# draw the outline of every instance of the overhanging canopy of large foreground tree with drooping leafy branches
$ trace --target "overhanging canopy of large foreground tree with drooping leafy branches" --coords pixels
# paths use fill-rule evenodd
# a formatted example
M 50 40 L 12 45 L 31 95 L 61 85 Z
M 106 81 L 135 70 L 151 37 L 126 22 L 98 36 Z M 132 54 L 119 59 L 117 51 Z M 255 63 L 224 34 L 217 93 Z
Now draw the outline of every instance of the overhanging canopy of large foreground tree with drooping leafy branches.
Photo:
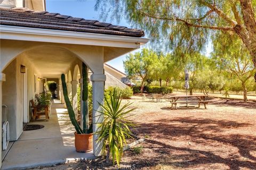
M 256 0 L 98 0 L 95 10 L 102 19 L 124 16 L 145 29 L 156 47 L 171 50 L 199 51 L 210 35 L 232 32 L 256 66 Z

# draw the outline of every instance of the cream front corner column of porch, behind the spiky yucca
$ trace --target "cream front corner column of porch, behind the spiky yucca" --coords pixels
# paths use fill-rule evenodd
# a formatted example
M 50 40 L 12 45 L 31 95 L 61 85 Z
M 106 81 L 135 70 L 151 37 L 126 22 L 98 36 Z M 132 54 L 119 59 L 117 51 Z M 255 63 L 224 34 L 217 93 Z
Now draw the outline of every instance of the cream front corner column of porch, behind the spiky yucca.
M 104 82 L 106 81 L 105 74 L 92 74 L 92 105 L 93 105 L 93 114 L 92 114 L 92 122 L 93 122 L 93 132 L 97 132 L 100 129 L 98 128 L 97 123 L 101 123 L 104 120 L 104 116 L 101 113 L 97 112 L 102 110 L 99 106 L 98 102 L 103 104 L 104 98 Z M 99 116 L 100 115 L 100 116 Z M 93 154 L 95 156 L 102 155 L 102 143 L 97 142 L 98 135 L 93 134 Z

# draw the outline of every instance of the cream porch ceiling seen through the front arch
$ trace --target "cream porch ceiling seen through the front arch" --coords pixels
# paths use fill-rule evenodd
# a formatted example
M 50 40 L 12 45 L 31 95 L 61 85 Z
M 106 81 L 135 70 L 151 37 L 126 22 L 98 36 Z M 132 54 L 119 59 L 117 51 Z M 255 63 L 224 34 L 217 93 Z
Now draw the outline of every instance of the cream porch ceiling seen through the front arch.
M 42 77 L 59 78 L 61 73 L 68 71 L 71 63 L 79 60 L 66 49 L 41 47 L 25 52 Z

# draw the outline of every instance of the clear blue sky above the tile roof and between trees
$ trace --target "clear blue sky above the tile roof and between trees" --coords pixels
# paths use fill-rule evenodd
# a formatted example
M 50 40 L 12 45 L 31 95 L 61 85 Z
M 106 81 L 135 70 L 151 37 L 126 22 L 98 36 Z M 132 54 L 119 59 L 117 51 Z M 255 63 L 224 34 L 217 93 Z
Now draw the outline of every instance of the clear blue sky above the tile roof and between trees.
M 46 0 L 46 11 L 56 12 L 63 15 L 70 15 L 74 17 L 99 20 L 99 12 L 94 11 L 95 0 Z M 125 27 L 132 26 L 122 19 L 119 23 L 116 21 L 106 21 L 112 24 L 118 24 Z M 206 55 L 209 55 L 212 50 L 211 43 L 206 48 Z M 125 56 L 120 56 L 108 62 L 109 65 L 115 67 L 117 70 L 124 72 L 123 61 Z

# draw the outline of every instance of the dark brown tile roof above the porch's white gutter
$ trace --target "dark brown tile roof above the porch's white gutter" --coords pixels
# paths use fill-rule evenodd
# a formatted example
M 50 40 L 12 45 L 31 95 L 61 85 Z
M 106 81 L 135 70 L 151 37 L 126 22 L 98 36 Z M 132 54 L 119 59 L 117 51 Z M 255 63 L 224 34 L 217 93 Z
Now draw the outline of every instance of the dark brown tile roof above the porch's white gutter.
M 0 8 L 0 24 L 129 37 L 143 37 L 145 35 L 142 30 L 138 29 L 130 29 L 97 20 L 74 18 L 59 13 L 35 11 L 29 8 Z

